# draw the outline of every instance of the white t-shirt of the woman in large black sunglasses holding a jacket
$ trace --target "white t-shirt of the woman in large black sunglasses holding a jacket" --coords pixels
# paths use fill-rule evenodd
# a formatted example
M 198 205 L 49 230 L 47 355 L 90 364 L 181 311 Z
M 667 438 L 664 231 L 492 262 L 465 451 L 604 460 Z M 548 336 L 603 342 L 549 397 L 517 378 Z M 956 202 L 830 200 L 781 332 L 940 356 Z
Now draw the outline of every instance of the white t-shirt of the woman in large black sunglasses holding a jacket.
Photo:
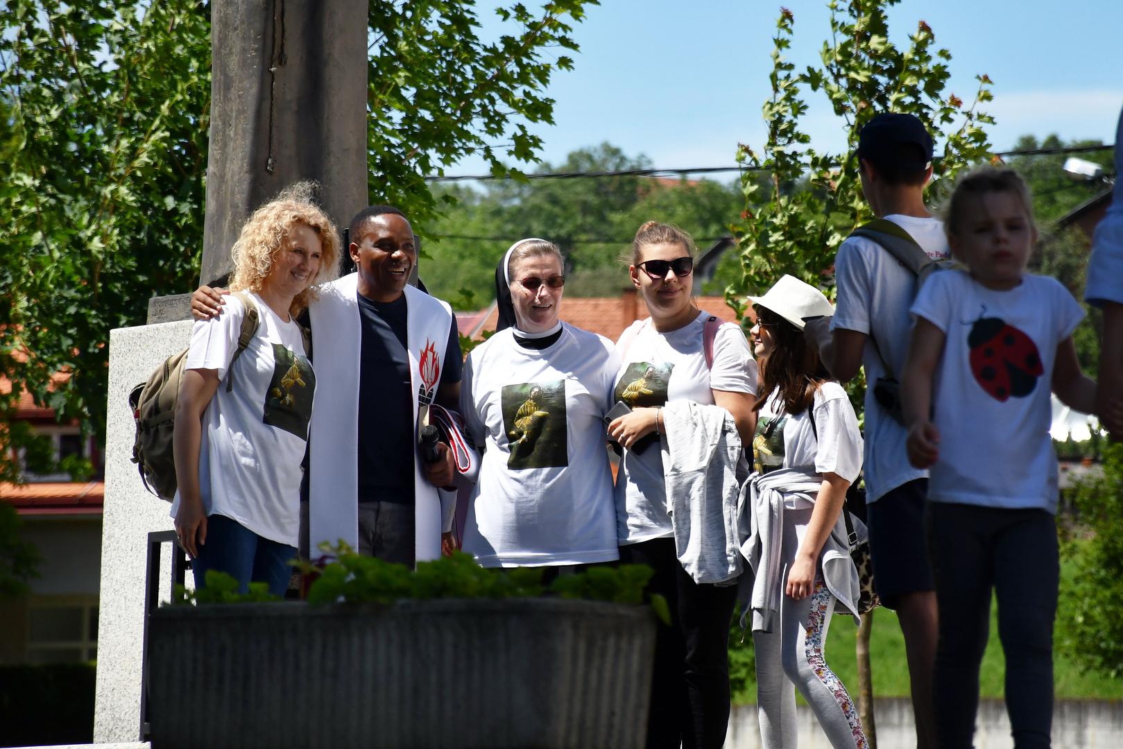
M 706 367 L 703 332 L 709 318 L 709 312 L 700 312 L 693 322 L 670 332 L 659 332 L 650 319 L 633 322 L 620 336 L 621 341 L 634 337 L 627 350 L 619 351 L 623 360 L 612 403 L 642 408 L 686 400 L 712 405 L 715 390 L 755 395 L 757 363 L 737 325 L 718 328 L 713 367 Z M 674 535 L 658 441 L 641 453 L 624 450 L 617 472 L 615 505 L 621 546 Z

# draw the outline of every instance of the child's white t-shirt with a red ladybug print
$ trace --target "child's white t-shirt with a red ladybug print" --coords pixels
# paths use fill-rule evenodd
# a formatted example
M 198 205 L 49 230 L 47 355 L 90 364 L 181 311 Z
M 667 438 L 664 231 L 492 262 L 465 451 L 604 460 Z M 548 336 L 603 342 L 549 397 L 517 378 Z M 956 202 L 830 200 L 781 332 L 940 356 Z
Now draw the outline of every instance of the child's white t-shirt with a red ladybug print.
M 1052 371 L 1084 310 L 1056 278 L 1025 275 L 994 291 L 944 271 L 924 283 L 912 312 L 946 335 L 933 389 L 940 457 L 928 499 L 1056 513 Z

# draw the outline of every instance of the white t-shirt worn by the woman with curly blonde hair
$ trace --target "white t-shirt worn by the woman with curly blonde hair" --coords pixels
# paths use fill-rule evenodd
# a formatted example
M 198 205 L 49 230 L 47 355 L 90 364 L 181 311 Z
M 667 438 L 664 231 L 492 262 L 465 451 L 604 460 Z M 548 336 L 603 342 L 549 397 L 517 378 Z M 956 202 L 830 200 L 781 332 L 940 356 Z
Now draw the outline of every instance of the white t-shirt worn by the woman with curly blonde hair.
M 222 314 L 191 329 L 188 369 L 217 369 L 219 386 L 203 412 L 199 487 L 208 515 L 237 521 L 271 541 L 298 546 L 301 463 L 316 376 L 295 320 L 284 322 L 257 294 L 259 325 L 232 368 L 246 308 L 227 296 Z M 176 493 L 172 517 L 180 506 Z

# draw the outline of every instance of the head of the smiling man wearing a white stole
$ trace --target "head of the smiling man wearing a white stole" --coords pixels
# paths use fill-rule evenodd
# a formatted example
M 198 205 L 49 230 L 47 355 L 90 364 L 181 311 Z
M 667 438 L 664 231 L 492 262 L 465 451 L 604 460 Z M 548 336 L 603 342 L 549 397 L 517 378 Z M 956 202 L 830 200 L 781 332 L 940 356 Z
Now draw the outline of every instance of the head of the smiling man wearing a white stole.
M 358 293 L 376 302 L 401 296 L 418 259 L 413 243 L 413 229 L 402 216 L 383 213 L 364 221 L 350 244 Z

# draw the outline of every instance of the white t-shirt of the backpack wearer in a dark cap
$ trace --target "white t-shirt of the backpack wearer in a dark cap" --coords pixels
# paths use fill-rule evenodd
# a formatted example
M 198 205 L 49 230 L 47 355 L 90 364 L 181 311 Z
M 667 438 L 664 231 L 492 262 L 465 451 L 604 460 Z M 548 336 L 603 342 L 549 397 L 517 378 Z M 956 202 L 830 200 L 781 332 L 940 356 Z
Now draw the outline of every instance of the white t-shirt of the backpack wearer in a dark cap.
M 950 255 L 941 221 L 897 213 L 885 218 L 907 231 L 929 257 L 943 259 Z M 856 330 L 869 337 L 861 363 L 867 385 L 866 499 L 874 502 L 902 484 L 928 476 L 926 471 L 909 463 L 905 428 L 874 399 L 874 383 L 885 375 L 880 357 L 901 378 L 912 332 L 909 308 L 915 296 L 916 277 L 874 240 L 850 237 L 834 258 L 834 281 L 838 301 L 831 330 Z

